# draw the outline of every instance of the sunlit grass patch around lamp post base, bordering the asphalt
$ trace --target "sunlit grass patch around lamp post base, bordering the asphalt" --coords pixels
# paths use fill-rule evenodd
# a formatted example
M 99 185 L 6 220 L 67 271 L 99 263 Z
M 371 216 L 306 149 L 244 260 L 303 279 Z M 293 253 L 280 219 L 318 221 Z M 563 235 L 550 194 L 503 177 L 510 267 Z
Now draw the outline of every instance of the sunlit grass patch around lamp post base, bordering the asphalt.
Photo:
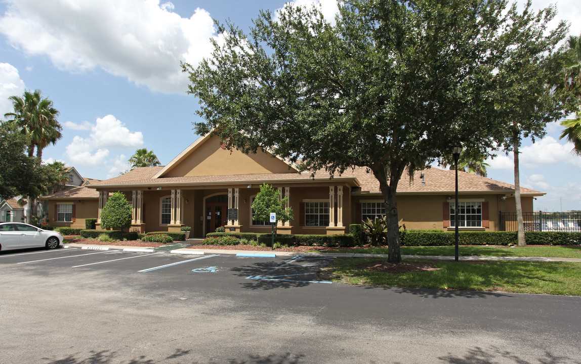
M 377 258 L 337 258 L 322 269 L 322 275 L 360 286 L 581 295 L 581 263 L 577 262 L 404 260 L 411 262 L 434 270 L 390 273 L 378 271 L 390 264 Z

